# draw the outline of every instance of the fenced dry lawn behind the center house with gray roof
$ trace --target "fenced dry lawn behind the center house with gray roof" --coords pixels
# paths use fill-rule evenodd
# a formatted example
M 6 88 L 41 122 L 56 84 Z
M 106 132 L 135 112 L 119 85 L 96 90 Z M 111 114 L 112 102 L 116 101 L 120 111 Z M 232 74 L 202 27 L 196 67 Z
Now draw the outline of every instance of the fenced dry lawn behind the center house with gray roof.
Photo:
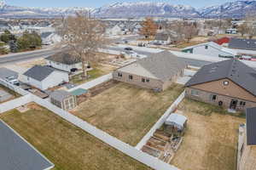
M 120 82 L 86 100 L 72 113 L 125 143 L 136 145 L 182 92 L 183 87 L 177 84 L 154 93 Z

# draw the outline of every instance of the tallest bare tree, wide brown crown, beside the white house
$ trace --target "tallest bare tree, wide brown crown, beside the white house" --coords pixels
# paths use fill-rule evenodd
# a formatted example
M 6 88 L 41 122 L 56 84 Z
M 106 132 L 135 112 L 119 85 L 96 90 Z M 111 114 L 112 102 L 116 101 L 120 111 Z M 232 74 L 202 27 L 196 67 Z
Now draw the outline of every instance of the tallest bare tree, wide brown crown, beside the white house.
M 83 78 L 87 77 L 87 66 L 96 64 L 96 51 L 106 44 L 105 27 L 88 12 L 78 12 L 74 16 L 62 17 L 56 22 L 56 30 L 62 37 L 61 44 L 79 56 L 83 65 Z

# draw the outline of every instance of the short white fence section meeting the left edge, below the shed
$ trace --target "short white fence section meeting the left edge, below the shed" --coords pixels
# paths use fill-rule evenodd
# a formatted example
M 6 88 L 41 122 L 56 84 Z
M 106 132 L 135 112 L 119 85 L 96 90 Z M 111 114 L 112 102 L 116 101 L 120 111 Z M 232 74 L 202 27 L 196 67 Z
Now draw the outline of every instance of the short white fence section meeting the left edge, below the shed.
M 30 102 L 32 102 L 31 94 L 26 94 L 25 96 L 22 96 L 18 99 L 13 99 L 13 100 L 4 102 L 3 104 L 0 104 L 0 114 L 6 111 L 13 110 L 17 107 L 20 107 L 21 105 L 26 105 Z

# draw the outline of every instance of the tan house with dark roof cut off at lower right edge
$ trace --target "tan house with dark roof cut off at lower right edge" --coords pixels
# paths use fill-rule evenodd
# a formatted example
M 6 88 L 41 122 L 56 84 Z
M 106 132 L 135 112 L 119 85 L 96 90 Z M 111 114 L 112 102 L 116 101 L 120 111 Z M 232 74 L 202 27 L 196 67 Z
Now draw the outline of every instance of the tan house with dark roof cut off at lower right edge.
M 256 167 L 256 108 L 247 109 L 246 115 L 246 125 L 239 128 L 237 170 L 254 170 Z

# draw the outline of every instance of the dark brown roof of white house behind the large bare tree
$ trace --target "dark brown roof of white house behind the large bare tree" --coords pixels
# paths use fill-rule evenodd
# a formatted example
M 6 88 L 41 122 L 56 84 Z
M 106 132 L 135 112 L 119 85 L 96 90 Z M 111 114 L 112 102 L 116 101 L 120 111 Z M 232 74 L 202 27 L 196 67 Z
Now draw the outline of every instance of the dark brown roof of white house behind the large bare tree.
M 57 54 L 53 54 L 53 55 L 49 56 L 46 59 L 50 60 L 50 61 L 55 61 L 55 62 L 58 62 L 58 63 L 62 63 L 62 64 L 65 64 L 65 65 L 73 65 L 73 64 L 81 62 L 81 59 L 79 57 L 76 57 L 76 56 L 74 56 L 72 54 L 69 54 L 67 52 L 60 52 L 60 53 L 57 53 Z

